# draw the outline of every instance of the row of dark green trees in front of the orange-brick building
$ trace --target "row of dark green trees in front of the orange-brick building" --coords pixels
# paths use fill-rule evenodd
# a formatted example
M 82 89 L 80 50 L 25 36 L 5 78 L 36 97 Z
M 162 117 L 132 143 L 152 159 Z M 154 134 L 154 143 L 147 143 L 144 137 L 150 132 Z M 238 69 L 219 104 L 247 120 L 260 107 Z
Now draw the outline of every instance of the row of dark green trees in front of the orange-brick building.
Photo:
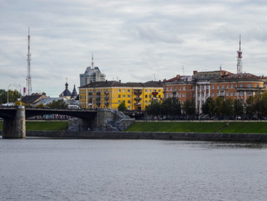
M 246 118 L 266 118 L 267 117 L 267 93 L 251 96 L 245 103 L 241 99 L 224 99 L 217 97 L 212 99 L 208 97 L 206 102 L 202 104 L 202 113 L 208 115 L 209 118 L 236 118 L 244 116 Z M 183 105 L 179 104 L 177 98 L 171 97 L 165 99 L 161 104 L 153 102 L 147 106 L 148 115 L 186 115 L 190 118 L 198 115 L 198 110 L 195 108 L 194 100 L 186 100 Z

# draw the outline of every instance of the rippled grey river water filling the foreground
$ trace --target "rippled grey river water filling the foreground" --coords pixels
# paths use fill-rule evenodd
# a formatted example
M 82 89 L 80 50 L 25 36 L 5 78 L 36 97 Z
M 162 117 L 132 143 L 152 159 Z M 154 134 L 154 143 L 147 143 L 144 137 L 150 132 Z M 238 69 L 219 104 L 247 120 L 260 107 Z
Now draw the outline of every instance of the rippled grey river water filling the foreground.
M 0 137 L 0 200 L 266 200 L 267 144 Z

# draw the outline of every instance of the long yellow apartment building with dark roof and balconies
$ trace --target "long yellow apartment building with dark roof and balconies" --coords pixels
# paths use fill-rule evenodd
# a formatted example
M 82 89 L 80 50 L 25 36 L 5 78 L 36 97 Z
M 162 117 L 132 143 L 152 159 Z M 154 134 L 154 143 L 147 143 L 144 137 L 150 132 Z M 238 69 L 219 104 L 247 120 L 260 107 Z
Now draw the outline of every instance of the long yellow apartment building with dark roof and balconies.
M 128 110 L 143 111 L 152 100 L 163 99 L 163 83 L 121 83 L 120 81 L 96 81 L 79 88 L 81 108 L 118 109 L 125 102 Z

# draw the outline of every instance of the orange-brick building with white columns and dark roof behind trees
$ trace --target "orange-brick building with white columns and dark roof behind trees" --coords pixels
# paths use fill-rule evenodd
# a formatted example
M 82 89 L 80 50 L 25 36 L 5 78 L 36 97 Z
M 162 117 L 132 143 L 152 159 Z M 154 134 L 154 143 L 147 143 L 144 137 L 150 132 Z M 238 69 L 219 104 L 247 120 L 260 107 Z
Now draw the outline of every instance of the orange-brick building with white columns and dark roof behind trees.
M 253 74 L 233 74 L 225 70 L 193 72 L 193 76 L 179 76 L 164 80 L 164 99 L 177 97 L 181 104 L 194 100 L 197 111 L 202 113 L 202 104 L 208 97 L 216 99 L 240 99 L 242 103 L 252 95 L 264 93 L 266 79 Z

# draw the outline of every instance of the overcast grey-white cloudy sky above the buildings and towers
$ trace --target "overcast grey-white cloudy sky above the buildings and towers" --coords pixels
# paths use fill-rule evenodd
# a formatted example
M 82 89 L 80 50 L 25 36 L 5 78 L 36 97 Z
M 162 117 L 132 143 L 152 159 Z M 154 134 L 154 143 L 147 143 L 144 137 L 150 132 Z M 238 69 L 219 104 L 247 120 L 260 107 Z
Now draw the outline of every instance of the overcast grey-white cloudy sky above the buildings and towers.
M 108 80 L 145 82 L 193 70 L 266 76 L 266 0 L 0 0 L 0 88 L 26 87 L 28 28 L 33 93 L 79 87 L 94 55 Z M 184 67 L 184 70 L 183 70 Z

